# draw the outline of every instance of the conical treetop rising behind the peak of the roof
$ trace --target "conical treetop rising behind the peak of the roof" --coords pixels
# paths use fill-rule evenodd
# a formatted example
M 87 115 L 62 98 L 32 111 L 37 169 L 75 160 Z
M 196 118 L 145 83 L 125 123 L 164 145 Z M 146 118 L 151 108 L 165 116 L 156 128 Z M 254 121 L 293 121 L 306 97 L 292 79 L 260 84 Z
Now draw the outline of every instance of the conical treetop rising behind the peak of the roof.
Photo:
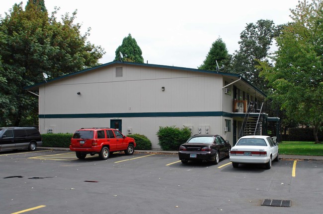
M 143 53 L 135 38 L 131 37 L 131 34 L 123 38 L 121 46 L 119 46 L 115 51 L 114 61 L 120 60 L 119 52 L 124 56 L 122 58 L 123 61 L 144 63 L 144 58 L 142 56 Z

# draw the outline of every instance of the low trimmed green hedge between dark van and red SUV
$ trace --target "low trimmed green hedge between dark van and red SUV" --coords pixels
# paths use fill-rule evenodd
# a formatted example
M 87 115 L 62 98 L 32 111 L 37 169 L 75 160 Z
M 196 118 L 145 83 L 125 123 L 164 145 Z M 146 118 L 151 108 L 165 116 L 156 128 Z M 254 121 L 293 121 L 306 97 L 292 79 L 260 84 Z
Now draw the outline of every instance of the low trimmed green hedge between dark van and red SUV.
M 43 147 L 63 147 L 69 148 L 73 134 L 42 134 Z

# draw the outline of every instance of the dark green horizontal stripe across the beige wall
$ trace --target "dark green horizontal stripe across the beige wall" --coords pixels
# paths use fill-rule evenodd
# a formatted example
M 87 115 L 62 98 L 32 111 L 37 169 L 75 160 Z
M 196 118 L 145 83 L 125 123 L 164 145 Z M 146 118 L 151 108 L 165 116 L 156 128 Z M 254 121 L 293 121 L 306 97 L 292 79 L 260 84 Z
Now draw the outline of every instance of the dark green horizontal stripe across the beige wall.
M 187 116 L 233 117 L 232 113 L 228 113 L 224 111 L 39 114 L 39 118 L 187 117 Z

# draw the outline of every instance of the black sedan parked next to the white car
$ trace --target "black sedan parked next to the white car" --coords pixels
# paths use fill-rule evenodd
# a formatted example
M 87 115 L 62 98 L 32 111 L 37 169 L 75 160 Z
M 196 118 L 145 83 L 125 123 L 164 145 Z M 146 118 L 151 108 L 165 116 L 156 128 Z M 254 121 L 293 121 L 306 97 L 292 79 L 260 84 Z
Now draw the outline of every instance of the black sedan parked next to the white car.
M 231 146 L 220 135 L 194 135 L 179 147 L 178 158 L 182 163 L 188 160 L 214 161 L 230 156 Z

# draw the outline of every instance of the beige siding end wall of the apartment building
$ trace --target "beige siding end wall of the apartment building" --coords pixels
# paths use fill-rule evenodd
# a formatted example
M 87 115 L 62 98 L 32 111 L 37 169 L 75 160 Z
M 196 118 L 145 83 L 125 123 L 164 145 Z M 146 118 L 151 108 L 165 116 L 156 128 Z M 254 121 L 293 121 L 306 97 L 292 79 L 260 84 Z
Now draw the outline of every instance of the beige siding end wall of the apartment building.
M 39 88 L 40 114 L 88 114 L 134 112 L 231 112 L 231 98 L 224 95 L 221 75 L 123 65 L 123 77 L 115 67 L 106 66 Z M 161 91 L 161 87 L 165 91 Z M 81 95 L 77 95 L 81 92 Z M 221 100 L 225 99 L 224 104 Z M 229 102 L 230 101 L 230 102 Z M 156 132 L 160 126 L 192 126 L 193 134 L 220 134 L 232 142 L 232 132 L 224 132 L 224 117 L 124 117 L 124 118 L 40 118 L 40 131 L 74 133 L 81 127 L 108 127 L 110 119 L 122 119 L 122 131 L 146 135 L 159 149 Z

